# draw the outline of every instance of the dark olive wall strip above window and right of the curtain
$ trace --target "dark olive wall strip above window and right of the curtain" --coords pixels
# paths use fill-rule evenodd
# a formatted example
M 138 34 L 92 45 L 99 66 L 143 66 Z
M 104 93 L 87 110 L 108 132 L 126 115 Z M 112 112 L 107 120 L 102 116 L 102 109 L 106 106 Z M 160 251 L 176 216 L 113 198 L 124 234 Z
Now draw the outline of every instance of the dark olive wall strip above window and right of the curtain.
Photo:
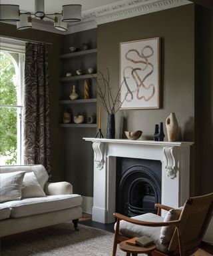
M 17 39 L 29 39 L 52 43 L 49 45 L 49 81 L 50 81 L 50 107 L 51 107 L 51 166 L 53 171 L 53 180 L 64 179 L 63 161 L 62 161 L 62 141 L 61 130 L 59 129 L 59 54 L 63 45 L 63 35 L 49 33 L 35 29 L 17 31 L 14 25 L 0 23 L 0 35 L 16 37 Z

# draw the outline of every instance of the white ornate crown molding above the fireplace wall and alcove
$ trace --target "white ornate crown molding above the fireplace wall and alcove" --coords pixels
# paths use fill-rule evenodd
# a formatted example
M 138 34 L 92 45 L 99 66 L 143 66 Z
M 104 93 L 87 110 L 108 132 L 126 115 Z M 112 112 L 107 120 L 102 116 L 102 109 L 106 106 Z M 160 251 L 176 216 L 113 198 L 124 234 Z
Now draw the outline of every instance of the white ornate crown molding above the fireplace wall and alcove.
M 97 25 L 136 17 L 155 11 L 188 5 L 188 0 L 122 0 L 89 11 L 83 11 L 82 21 L 72 24 L 67 33 L 94 29 Z

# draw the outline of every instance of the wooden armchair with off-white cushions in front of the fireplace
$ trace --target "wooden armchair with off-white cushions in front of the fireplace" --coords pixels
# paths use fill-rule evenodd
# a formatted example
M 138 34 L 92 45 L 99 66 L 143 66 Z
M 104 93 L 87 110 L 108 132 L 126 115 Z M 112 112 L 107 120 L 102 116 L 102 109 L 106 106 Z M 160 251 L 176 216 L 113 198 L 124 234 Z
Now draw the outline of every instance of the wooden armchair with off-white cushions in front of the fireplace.
M 191 197 L 178 209 L 160 204 L 156 207 L 157 215 L 146 213 L 129 218 L 114 213 L 117 221 L 112 256 L 116 255 L 118 243 L 142 235 L 154 240 L 156 250 L 152 255 L 192 255 L 199 249 L 212 217 L 213 193 Z M 160 216 L 161 209 L 168 211 L 164 218 Z

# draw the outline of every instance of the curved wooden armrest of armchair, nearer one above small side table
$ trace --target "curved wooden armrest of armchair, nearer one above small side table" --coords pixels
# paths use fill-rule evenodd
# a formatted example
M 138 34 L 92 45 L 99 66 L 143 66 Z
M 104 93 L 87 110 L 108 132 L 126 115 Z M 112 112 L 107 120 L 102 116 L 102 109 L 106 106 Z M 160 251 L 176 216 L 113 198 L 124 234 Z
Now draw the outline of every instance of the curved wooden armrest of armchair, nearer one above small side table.
M 164 226 L 170 226 L 175 225 L 176 227 L 179 226 L 180 220 L 176 221 L 167 221 L 167 222 L 149 222 L 149 221 L 139 221 L 138 219 L 132 219 L 130 217 L 126 217 L 120 213 L 113 213 L 114 217 L 116 217 L 118 220 L 127 221 L 132 224 L 136 225 L 142 225 L 147 227 L 164 227 Z

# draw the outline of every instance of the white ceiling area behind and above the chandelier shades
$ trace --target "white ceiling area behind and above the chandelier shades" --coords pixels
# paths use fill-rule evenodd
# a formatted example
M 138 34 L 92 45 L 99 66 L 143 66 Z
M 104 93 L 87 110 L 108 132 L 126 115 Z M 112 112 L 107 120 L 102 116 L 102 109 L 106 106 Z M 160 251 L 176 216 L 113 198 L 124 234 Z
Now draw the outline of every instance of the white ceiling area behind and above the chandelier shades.
M 45 0 L 45 13 L 56 13 L 61 11 L 62 5 L 80 4 L 82 11 L 108 5 L 118 0 Z M 34 0 L 0 0 L 1 4 L 19 5 L 23 11 L 34 12 Z

